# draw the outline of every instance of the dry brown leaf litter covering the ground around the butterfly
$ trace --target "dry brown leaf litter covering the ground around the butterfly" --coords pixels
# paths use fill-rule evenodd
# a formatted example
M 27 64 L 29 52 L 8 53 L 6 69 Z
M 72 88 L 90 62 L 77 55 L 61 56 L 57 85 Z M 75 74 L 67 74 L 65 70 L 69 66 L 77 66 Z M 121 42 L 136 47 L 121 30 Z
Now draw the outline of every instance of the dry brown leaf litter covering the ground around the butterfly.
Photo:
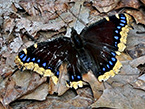
M 88 1 L 91 5 L 89 5 L 89 8 L 87 6 L 85 7 L 88 8 L 85 10 L 86 13 L 90 14 L 89 17 L 86 16 L 86 22 L 92 20 L 91 18 L 93 18 L 93 16 L 96 17 L 93 12 L 97 10 L 91 7 L 95 7 L 100 12 L 105 12 L 109 15 L 114 13 L 114 11 L 118 12 L 118 9 L 122 10 L 122 8 L 124 8 L 123 11 L 131 14 L 137 22 L 134 30 L 130 31 L 128 36 L 127 49 L 125 52 L 129 54 L 130 57 L 122 54 L 122 58 L 120 58 L 123 64 L 121 72 L 115 77 L 110 78 L 107 82 L 102 83 L 100 87 L 95 87 L 95 84 L 93 84 L 94 79 L 92 82 L 88 80 L 90 86 L 94 87 L 92 90 L 89 85 L 78 89 L 76 92 L 69 90 L 64 87 L 65 78 L 67 78 L 67 72 L 64 66 L 60 69 L 62 78 L 64 79 L 59 81 L 60 84 L 58 86 L 53 85 L 51 80 L 48 83 L 47 78 L 42 78 L 32 71 L 17 71 L 15 74 L 11 75 L 15 69 L 13 62 L 14 57 L 19 50 L 22 49 L 21 46 L 23 46 L 23 43 L 29 42 L 26 38 L 27 35 L 24 34 L 27 32 L 34 37 L 34 39 L 39 41 L 41 40 L 41 35 L 44 35 L 42 33 L 45 32 L 47 34 L 49 32 L 53 33 L 49 35 L 49 38 L 54 35 L 59 35 L 59 33 L 65 33 L 64 28 L 66 28 L 68 24 L 70 26 L 77 26 L 75 25 L 75 21 L 78 20 L 74 20 L 75 17 L 71 15 L 68 10 L 73 9 L 73 6 L 79 9 L 79 4 L 84 2 L 86 1 L 79 2 L 75 0 L 69 2 L 62 0 L 48 2 L 45 0 L 20 0 L 19 2 L 11 3 L 13 7 L 9 7 L 9 11 L 1 11 L 3 12 L 3 23 L 1 26 L 3 31 L 1 31 L 0 36 L 0 108 L 144 108 L 145 78 L 144 72 L 140 74 L 141 70 L 138 66 L 141 65 L 141 67 L 144 68 L 145 64 L 145 28 L 138 23 L 145 24 L 145 16 L 144 11 L 139 10 L 143 4 L 138 0 L 97 1 L 97 3 Z M 70 7 L 67 4 L 69 4 Z M 65 22 L 60 19 L 60 16 L 58 16 L 55 11 L 58 11 Z M 98 15 L 98 12 L 96 14 Z M 81 15 L 81 11 L 79 12 L 78 10 L 75 15 Z M 84 20 L 83 14 L 80 16 L 80 19 Z M 76 27 L 76 29 L 79 28 Z M 46 37 L 47 34 L 45 34 Z M 103 93 L 101 92 L 99 93 L 100 95 L 96 95 L 99 96 L 99 98 L 94 100 L 92 92 L 98 91 L 98 87 Z M 58 94 L 55 92 L 58 92 Z M 32 102 L 31 100 L 34 101 Z

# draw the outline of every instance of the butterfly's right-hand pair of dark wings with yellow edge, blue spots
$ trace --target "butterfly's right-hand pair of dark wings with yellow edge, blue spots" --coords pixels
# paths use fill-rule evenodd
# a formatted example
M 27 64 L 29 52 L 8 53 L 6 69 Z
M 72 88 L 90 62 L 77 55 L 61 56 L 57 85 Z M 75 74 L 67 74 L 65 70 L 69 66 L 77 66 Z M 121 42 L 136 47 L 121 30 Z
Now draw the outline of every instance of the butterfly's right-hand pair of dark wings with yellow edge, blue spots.
M 116 54 L 119 55 L 126 47 L 131 23 L 131 16 L 119 14 L 104 18 L 82 31 L 84 48 L 95 60 L 92 66 L 95 69 L 92 70 L 100 81 L 118 73 L 121 63 L 116 59 Z

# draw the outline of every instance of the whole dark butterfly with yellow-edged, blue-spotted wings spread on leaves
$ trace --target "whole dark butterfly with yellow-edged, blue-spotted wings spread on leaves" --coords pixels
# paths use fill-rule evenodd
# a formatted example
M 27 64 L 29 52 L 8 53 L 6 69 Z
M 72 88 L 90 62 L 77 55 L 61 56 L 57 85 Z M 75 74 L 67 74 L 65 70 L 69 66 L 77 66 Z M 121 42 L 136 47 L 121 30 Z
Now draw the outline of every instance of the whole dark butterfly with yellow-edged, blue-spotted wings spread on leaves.
M 75 89 L 83 87 L 82 75 L 90 70 L 99 81 L 105 81 L 122 66 L 116 56 L 126 47 L 132 22 L 128 14 L 106 17 L 84 28 L 80 34 L 72 29 L 70 38 L 53 38 L 22 50 L 15 63 L 23 70 L 50 77 L 57 84 L 58 69 L 66 62 L 69 76 L 66 85 Z

